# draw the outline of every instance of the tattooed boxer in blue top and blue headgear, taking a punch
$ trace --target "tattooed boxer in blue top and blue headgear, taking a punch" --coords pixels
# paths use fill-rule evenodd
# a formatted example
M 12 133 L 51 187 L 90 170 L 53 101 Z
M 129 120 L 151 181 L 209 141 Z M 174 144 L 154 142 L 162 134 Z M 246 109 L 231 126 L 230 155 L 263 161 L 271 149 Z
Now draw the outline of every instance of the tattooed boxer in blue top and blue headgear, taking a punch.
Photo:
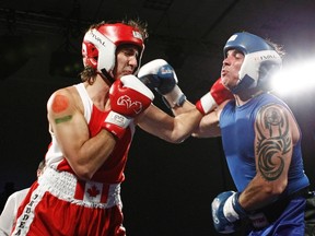
M 276 44 L 242 32 L 229 38 L 223 55 L 219 80 L 233 99 L 220 103 L 213 111 L 210 91 L 196 106 L 188 101 L 184 104 L 205 115 L 195 137 L 222 137 L 236 187 L 212 201 L 217 232 L 234 233 L 249 222 L 246 233 L 252 236 L 315 235 L 314 205 L 310 205 L 314 194 L 308 191 L 310 181 L 304 174 L 301 130 L 288 105 L 270 93 L 272 74 L 281 69 L 284 54 Z M 141 69 L 139 74 L 140 80 L 144 78 Z M 156 83 L 155 76 L 158 91 L 171 79 L 160 80 L 163 82 Z M 179 97 L 174 95 L 176 91 L 182 92 L 177 84 L 172 96 L 162 93 L 168 104 L 172 97 Z M 173 114 L 186 113 L 183 107 L 172 107 Z M 305 214 L 310 208 L 313 214 Z

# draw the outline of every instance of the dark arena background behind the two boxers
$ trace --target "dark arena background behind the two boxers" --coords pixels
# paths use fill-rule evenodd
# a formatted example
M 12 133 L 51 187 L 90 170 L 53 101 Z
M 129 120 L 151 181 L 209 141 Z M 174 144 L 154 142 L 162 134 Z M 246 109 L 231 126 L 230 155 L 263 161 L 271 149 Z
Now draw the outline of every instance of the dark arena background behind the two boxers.
M 80 82 L 81 42 L 91 23 L 136 16 L 147 21 L 150 37 L 142 63 L 166 59 L 182 90 L 196 102 L 219 78 L 222 48 L 235 32 L 283 45 L 284 67 L 312 59 L 314 12 L 313 0 L 0 0 L 0 190 L 8 182 L 22 189 L 35 180 L 50 141 L 46 102 L 55 90 Z M 314 80 L 314 71 L 307 72 Z M 282 98 L 301 126 L 305 172 L 314 189 L 314 87 Z M 158 94 L 154 103 L 165 109 Z M 220 139 L 171 144 L 139 129 L 121 190 L 127 233 L 215 235 L 210 204 L 230 189 L 234 185 Z

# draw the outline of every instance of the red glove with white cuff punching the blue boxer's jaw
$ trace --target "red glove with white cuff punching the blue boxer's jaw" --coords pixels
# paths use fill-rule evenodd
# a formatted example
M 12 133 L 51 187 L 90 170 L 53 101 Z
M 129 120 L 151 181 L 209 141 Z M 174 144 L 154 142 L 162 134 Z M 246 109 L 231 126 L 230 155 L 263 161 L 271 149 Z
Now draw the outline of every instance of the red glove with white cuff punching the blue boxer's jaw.
M 231 91 L 229 91 L 219 78 L 210 88 L 210 92 L 203 95 L 197 103 L 196 108 L 203 115 L 212 111 L 215 107 L 224 101 L 234 98 Z

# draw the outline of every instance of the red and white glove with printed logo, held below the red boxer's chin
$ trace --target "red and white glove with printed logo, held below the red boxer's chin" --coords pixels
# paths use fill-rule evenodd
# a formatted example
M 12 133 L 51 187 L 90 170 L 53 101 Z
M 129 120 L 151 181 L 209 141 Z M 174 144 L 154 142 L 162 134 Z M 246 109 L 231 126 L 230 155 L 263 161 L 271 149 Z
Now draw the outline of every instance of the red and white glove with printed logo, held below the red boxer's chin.
M 120 139 L 132 118 L 145 110 L 153 99 L 153 93 L 138 78 L 121 76 L 110 86 L 110 110 L 102 127 Z

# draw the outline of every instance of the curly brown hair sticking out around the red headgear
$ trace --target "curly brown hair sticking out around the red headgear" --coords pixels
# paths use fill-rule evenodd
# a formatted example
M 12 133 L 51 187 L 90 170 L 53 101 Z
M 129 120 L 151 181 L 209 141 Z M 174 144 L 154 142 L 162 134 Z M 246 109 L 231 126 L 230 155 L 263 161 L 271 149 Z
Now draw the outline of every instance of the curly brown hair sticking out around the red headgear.
M 147 24 L 147 22 L 142 22 L 139 19 L 122 20 L 122 21 L 115 21 L 115 22 L 114 21 L 112 21 L 112 22 L 110 21 L 106 21 L 106 22 L 102 21 L 100 23 L 92 24 L 88 31 L 90 31 L 92 28 L 98 28 L 104 24 L 115 24 L 115 23 L 122 23 L 122 24 L 132 26 L 133 28 L 137 28 L 140 32 L 140 34 L 142 35 L 143 42 L 149 38 L 148 24 Z M 80 73 L 80 76 L 81 76 L 82 82 L 86 81 L 91 85 L 94 83 L 97 74 L 100 74 L 100 72 L 96 69 L 94 69 L 90 66 L 86 66 L 84 68 L 84 70 Z

